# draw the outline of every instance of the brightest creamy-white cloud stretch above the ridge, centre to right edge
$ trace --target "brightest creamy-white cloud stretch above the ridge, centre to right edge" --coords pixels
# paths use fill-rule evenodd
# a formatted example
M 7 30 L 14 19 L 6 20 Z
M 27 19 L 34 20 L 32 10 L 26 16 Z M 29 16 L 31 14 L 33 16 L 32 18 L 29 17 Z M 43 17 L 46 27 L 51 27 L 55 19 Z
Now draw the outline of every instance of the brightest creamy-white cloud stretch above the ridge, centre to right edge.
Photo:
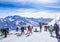
M 48 13 L 45 11 L 40 11 L 40 12 L 24 12 L 24 13 L 20 13 L 21 16 L 25 16 L 25 17 L 33 17 L 33 18 L 40 18 L 40 17 L 44 17 L 44 18 L 55 18 L 60 16 L 60 13 Z

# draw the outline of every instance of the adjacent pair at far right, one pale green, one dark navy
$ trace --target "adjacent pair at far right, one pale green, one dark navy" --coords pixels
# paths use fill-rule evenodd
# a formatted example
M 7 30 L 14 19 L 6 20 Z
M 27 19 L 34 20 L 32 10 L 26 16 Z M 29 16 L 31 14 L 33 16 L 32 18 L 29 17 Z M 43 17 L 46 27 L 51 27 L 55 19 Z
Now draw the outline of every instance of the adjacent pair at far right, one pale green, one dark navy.
M 60 35 L 59 35 L 59 25 L 57 23 L 55 23 L 53 26 L 50 25 L 49 26 L 49 31 L 50 31 L 51 36 L 52 36 L 53 31 L 55 31 L 56 38 L 60 38 Z

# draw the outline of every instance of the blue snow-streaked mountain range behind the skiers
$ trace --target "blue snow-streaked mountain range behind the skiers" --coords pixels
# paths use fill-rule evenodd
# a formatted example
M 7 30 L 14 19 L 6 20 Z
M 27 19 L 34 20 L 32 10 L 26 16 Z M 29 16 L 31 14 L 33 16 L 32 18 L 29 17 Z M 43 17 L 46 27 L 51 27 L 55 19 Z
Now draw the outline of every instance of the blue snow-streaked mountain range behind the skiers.
M 0 28 L 11 28 L 15 29 L 17 26 L 22 25 L 33 25 L 38 26 L 38 22 L 45 22 L 48 23 L 52 19 L 51 18 L 27 18 L 27 17 L 21 17 L 18 15 L 14 16 L 7 16 L 4 19 L 0 19 Z

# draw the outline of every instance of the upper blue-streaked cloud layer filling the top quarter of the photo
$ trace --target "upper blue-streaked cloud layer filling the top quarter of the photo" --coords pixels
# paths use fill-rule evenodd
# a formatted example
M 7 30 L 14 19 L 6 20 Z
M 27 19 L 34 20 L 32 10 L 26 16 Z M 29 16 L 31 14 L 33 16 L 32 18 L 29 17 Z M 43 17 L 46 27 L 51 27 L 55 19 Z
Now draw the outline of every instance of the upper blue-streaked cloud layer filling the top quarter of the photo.
M 48 8 L 60 9 L 59 0 L 0 0 L 0 7 L 3 8 L 34 8 L 47 10 Z M 49 9 L 48 9 L 49 10 Z

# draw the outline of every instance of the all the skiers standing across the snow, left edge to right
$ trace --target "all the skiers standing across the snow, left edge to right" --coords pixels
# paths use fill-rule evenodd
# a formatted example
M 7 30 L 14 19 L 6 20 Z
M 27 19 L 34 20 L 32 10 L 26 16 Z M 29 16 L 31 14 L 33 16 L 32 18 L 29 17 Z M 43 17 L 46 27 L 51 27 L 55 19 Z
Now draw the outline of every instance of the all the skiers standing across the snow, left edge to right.
M 42 31 L 42 23 L 39 23 L 39 27 L 40 27 L 40 32 Z M 46 29 L 49 30 L 51 36 L 53 34 L 53 31 L 55 31 L 55 34 L 56 34 L 56 38 L 59 38 L 59 25 L 57 23 L 55 23 L 53 26 L 50 25 L 49 27 L 45 26 L 45 31 L 47 31 Z M 21 30 L 21 35 L 25 33 L 25 30 L 27 31 L 26 34 L 28 35 L 31 35 L 32 34 L 32 29 L 33 29 L 33 26 L 22 26 L 20 28 Z M 16 28 L 16 31 L 19 31 L 19 28 L 17 27 Z M 7 35 L 9 34 L 9 28 L 5 28 L 5 29 L 1 29 L 1 32 L 3 33 L 4 37 L 7 37 Z

